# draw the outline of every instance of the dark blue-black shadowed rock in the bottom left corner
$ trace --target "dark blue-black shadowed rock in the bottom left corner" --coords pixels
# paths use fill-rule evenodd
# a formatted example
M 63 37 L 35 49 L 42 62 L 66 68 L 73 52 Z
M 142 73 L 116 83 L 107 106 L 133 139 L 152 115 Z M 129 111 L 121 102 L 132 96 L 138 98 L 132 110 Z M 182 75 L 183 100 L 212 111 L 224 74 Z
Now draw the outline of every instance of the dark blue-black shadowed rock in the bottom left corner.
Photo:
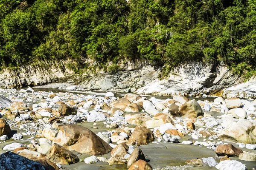
M 10 151 L 1 154 L 0 167 L 1 170 L 49 170 L 49 168 L 38 162 Z

